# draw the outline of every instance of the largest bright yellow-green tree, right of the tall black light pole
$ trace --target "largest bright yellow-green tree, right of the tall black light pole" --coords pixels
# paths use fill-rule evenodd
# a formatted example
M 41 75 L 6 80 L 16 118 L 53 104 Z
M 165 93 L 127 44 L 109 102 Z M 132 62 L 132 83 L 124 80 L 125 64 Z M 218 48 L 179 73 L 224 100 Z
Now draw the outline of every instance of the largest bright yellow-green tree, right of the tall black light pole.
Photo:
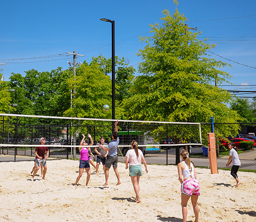
M 237 112 L 227 106 L 230 94 L 212 86 L 231 77 L 220 70 L 227 64 L 210 58 L 207 51 L 214 45 L 198 40 L 200 33 L 185 33 L 186 18 L 177 9 L 173 16 L 163 13 L 163 25 L 150 25 L 152 37 L 141 38 L 146 42 L 138 53 L 141 75 L 123 103 L 128 118 L 210 122 L 214 117 L 216 122 L 237 122 Z

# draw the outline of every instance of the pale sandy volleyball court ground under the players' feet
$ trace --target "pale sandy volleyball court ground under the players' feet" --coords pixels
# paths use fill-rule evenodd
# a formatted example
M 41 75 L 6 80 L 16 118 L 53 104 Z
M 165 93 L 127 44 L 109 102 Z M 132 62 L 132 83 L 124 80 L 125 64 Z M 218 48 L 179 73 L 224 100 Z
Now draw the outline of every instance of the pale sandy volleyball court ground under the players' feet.
M 142 202 L 134 202 L 135 193 L 124 163 L 118 169 L 122 184 L 110 169 L 109 186 L 105 175 L 91 169 L 89 186 L 86 173 L 73 184 L 79 161 L 48 160 L 46 179 L 38 171 L 34 182 L 30 171 L 34 162 L 0 162 L 0 222 L 182 222 L 181 192 L 176 166 L 148 165 L 140 179 Z M 143 170 L 145 171 L 144 166 Z M 240 172 L 242 184 L 235 187 L 230 171 L 196 169 L 200 182 L 200 222 L 255 222 L 256 173 Z M 194 222 L 191 202 L 188 222 Z

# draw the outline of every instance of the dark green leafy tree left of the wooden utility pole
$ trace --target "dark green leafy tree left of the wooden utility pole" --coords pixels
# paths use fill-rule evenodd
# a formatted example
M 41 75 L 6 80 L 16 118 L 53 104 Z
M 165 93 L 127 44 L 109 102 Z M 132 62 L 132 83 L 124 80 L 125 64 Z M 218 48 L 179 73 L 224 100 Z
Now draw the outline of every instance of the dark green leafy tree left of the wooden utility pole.
M 70 70 L 60 67 L 51 72 L 31 69 L 26 76 L 12 73 L 10 85 L 15 91 L 18 112 L 22 114 L 62 115 L 70 107 L 67 79 Z

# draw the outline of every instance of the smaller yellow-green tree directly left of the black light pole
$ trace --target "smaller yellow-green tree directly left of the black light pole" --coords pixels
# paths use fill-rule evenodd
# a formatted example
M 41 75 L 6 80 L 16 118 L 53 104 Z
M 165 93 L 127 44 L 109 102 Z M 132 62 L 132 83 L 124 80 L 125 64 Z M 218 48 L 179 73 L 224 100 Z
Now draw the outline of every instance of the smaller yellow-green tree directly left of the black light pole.
M 104 104 L 111 104 L 111 81 L 98 64 L 83 63 L 77 68 L 76 77 L 71 77 L 68 84 L 75 90 L 75 94 L 73 106 L 65 111 L 65 115 L 111 119 L 111 112 L 103 111 Z

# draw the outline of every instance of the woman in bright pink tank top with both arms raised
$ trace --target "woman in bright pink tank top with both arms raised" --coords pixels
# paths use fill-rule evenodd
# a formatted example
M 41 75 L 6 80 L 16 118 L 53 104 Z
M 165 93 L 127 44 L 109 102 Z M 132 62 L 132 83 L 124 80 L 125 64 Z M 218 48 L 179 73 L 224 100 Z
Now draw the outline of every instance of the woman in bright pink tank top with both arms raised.
M 82 134 L 82 136 L 83 136 L 83 138 L 80 143 L 81 146 L 79 147 L 79 151 L 80 151 L 80 155 L 81 155 L 80 162 L 79 162 L 79 175 L 75 180 L 75 184 L 74 184 L 75 186 L 77 186 L 79 179 L 82 177 L 83 169 L 85 169 L 85 171 L 87 173 L 86 186 L 88 185 L 90 177 L 91 177 L 91 168 L 90 168 L 90 163 L 89 163 L 89 150 L 87 147 L 85 147 L 88 144 L 84 141 L 84 138 L 85 138 L 84 134 Z M 91 140 L 90 145 L 93 145 L 93 140 L 91 138 L 91 135 L 88 134 L 88 137 Z

